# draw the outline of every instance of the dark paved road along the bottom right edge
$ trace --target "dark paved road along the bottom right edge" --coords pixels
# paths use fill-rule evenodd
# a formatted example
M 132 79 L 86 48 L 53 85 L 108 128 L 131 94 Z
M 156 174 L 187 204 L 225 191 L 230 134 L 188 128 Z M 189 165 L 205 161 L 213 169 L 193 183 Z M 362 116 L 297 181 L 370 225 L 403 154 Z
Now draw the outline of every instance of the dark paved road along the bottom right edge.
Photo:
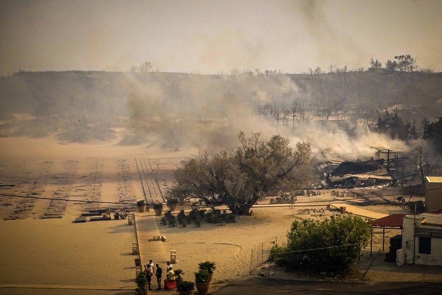
M 424 282 L 318 282 L 248 278 L 229 284 L 214 295 L 355 294 L 355 295 L 441 295 L 442 283 Z

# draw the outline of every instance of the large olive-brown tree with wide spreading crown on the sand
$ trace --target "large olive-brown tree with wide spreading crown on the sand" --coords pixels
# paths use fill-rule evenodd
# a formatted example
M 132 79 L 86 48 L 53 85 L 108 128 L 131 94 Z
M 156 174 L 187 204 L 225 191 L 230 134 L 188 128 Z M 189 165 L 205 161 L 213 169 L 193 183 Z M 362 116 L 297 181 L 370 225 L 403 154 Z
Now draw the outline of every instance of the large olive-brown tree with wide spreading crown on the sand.
M 209 157 L 185 161 L 176 171 L 176 183 L 167 197 L 181 201 L 198 198 L 206 204 L 226 204 L 234 214 L 248 215 L 261 197 L 301 188 L 310 177 L 310 144 L 293 149 L 279 135 L 239 134 L 240 145 Z

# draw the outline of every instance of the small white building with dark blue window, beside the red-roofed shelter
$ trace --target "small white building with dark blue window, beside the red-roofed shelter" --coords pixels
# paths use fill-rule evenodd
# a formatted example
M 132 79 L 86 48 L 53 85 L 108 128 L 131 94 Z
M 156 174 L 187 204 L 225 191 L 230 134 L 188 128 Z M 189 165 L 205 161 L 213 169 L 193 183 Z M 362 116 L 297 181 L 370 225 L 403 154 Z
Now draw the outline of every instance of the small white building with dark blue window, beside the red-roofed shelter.
M 406 215 L 402 227 L 398 264 L 442 266 L 442 214 Z

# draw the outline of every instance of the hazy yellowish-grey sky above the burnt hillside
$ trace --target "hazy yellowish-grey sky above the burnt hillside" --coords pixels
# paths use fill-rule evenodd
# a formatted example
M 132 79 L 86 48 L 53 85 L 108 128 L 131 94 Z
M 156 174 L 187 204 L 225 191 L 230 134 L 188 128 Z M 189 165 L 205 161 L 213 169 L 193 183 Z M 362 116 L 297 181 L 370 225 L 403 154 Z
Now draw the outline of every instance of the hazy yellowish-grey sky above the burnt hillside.
M 19 69 L 165 72 L 367 67 L 410 53 L 442 69 L 442 0 L 0 0 L 0 75 Z

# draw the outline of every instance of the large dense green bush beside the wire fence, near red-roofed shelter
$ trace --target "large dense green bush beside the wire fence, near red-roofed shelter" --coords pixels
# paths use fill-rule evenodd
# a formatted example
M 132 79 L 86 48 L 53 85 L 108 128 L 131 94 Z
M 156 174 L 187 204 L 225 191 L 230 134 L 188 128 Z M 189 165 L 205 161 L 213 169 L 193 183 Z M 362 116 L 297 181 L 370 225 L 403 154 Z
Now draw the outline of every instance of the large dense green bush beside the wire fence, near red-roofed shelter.
M 344 272 L 357 261 L 360 249 L 368 244 L 370 232 L 371 224 L 354 215 L 295 221 L 287 234 L 287 243 L 272 247 L 271 257 L 287 268 Z M 317 248 L 326 249 L 286 253 Z

